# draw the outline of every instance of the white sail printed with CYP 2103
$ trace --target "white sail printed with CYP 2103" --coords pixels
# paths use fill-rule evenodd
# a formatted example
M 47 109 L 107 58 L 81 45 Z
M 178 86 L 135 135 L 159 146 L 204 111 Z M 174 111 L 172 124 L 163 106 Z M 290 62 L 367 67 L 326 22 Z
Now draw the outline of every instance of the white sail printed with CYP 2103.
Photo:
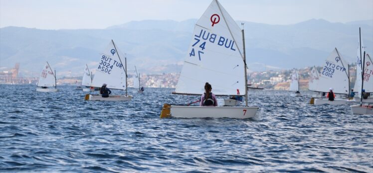
M 329 92 L 329 88 L 333 88 L 335 93 L 349 93 L 348 64 L 337 48 L 325 60 L 315 91 Z

